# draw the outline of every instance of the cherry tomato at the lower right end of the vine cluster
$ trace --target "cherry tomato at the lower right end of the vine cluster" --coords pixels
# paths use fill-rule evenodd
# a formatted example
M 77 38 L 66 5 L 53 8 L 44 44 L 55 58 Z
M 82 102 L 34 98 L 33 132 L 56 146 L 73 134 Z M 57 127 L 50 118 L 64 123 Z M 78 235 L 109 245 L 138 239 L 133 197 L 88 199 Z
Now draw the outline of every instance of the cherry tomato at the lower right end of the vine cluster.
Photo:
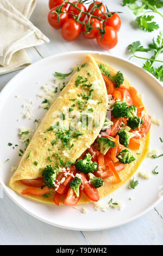
M 97 33 L 97 43 L 105 50 L 112 49 L 116 46 L 118 37 L 117 33 L 112 27 L 105 27 L 105 34 L 101 39 L 101 34 Z

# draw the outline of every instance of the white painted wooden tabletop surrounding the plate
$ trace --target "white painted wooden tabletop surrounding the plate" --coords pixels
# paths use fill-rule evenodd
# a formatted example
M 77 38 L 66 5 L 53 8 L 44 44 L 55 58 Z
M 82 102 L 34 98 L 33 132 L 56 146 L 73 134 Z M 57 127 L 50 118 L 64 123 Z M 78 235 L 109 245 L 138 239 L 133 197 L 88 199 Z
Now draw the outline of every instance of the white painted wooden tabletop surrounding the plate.
M 158 31 L 150 34 L 137 28 L 133 22 L 134 15 L 127 7 L 122 8 L 121 0 L 105 2 L 110 3 L 110 10 L 123 11 L 122 27 L 118 33 L 119 41 L 110 51 L 112 55 L 128 59 L 127 46 L 130 43 L 140 40 L 147 46 L 152 37 L 158 34 Z M 82 36 L 74 42 L 67 43 L 62 39 L 60 31 L 55 31 L 48 25 L 47 14 L 48 0 L 37 0 L 30 20 L 47 35 L 51 42 L 28 49 L 33 63 L 60 52 L 102 50 L 96 41 L 86 40 Z M 155 20 L 161 25 L 159 16 L 155 16 Z M 132 61 L 142 65 L 140 60 L 132 59 Z M 0 76 L 0 91 L 18 72 L 20 70 Z M 5 194 L 3 199 L 0 199 L 0 209 L 0 245 L 163 245 L 163 201 L 132 223 L 94 232 L 65 230 L 43 223 L 21 210 Z

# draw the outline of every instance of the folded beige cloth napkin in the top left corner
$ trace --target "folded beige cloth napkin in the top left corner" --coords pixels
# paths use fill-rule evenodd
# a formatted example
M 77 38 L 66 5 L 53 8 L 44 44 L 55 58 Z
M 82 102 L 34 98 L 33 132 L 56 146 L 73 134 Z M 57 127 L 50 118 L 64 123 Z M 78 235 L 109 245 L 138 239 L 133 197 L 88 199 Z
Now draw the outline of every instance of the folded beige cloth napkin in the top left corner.
M 28 66 L 31 61 L 24 49 L 49 41 L 27 19 L 34 7 L 32 0 L 0 0 L 0 74 Z

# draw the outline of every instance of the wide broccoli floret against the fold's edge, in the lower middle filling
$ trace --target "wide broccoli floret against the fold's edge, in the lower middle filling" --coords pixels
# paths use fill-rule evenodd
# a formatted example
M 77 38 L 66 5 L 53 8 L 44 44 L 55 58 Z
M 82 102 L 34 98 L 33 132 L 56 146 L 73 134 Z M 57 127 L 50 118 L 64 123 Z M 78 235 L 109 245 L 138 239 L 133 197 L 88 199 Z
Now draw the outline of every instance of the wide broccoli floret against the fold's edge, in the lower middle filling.
M 92 158 L 91 154 L 87 153 L 84 160 L 82 159 L 78 160 L 75 164 L 77 170 L 83 172 L 84 174 L 97 171 L 98 164 L 96 162 L 92 162 L 91 158 Z

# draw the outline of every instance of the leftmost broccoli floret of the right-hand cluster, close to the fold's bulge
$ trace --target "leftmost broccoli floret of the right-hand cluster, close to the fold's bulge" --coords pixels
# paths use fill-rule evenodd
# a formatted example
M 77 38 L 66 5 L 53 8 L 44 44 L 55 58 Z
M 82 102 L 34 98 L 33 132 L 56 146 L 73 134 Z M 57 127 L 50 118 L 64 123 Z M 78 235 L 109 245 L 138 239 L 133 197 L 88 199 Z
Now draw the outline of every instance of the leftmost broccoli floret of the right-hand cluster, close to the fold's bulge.
M 112 115 L 115 118 L 126 117 L 126 116 L 128 116 L 128 112 L 129 112 L 129 108 L 127 106 L 127 103 L 123 102 L 123 100 L 121 100 L 120 102 L 114 103 Z

